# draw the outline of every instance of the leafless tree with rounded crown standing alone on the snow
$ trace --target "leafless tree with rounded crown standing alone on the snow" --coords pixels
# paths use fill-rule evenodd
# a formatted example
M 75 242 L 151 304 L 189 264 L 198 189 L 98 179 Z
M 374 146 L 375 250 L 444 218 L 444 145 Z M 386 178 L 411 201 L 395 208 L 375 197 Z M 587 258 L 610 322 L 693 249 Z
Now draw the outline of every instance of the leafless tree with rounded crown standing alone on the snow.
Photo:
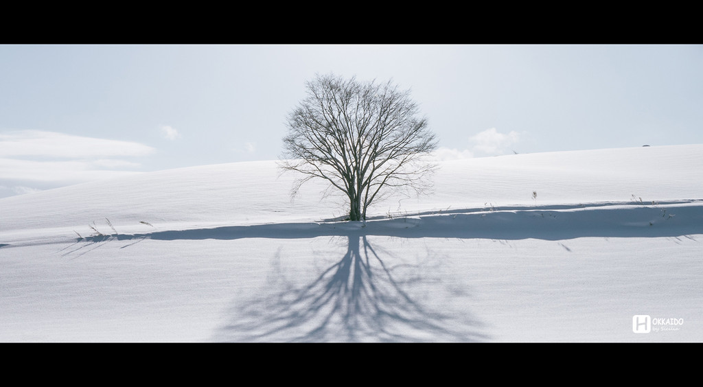
M 349 199 L 349 220 L 394 190 L 423 192 L 434 165 L 423 156 L 437 147 L 410 91 L 388 81 L 361 83 L 334 74 L 306 82 L 307 98 L 290 112 L 280 166 L 328 181 Z

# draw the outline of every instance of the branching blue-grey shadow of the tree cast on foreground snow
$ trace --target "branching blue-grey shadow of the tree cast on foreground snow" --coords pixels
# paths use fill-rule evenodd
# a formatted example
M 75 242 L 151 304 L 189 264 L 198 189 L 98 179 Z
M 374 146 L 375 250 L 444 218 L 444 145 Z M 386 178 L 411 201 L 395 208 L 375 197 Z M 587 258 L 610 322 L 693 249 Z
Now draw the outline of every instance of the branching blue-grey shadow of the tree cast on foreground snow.
M 408 294 L 423 278 L 389 268 L 365 236 L 309 284 L 277 273 L 259 296 L 232 308 L 215 341 L 467 342 L 486 339 L 466 313 L 425 306 Z M 413 282 L 411 284 L 411 282 Z M 271 287 L 273 289 L 271 289 Z M 275 289 L 275 290 L 274 290 Z

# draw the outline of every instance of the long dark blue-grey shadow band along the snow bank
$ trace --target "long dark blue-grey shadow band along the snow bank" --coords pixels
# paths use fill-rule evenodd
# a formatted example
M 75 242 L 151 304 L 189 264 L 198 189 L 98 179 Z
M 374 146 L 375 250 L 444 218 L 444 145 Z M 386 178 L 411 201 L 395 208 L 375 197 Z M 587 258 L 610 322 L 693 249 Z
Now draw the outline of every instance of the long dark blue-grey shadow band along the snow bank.
M 491 240 L 681 237 L 703 234 L 703 206 L 603 206 L 411 216 L 362 222 L 272 223 L 118 235 L 118 240 L 297 239 L 346 235 Z

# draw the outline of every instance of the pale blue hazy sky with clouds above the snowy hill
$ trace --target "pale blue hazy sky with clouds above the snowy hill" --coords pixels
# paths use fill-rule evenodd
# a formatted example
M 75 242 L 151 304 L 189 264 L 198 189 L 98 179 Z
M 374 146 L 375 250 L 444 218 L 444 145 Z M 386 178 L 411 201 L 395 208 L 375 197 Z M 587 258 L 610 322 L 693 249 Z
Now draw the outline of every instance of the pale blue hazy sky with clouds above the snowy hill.
M 278 159 L 304 83 L 409 89 L 443 159 L 703 143 L 699 45 L 0 45 L 0 197 Z

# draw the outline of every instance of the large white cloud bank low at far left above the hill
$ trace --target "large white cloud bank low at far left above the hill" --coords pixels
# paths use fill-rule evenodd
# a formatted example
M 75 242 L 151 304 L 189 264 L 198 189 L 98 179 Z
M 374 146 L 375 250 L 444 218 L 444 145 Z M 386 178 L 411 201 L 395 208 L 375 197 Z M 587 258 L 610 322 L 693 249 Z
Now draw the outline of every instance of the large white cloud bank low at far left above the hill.
M 0 133 L 0 184 L 9 195 L 125 176 L 141 165 L 130 158 L 154 151 L 141 143 L 49 131 Z

